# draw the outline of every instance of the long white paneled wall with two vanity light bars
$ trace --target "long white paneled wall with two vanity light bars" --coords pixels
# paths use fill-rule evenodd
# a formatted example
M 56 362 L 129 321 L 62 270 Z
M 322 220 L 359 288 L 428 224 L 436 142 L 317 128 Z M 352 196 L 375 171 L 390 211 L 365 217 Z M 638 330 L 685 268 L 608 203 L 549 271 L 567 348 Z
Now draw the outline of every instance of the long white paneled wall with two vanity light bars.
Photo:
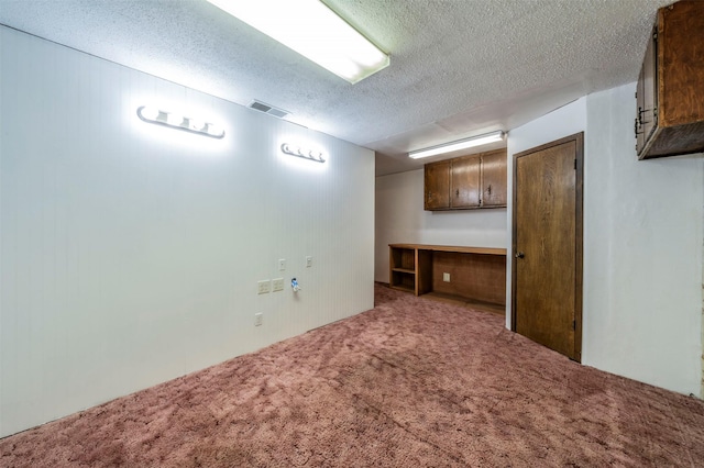
M 0 47 L 0 436 L 373 307 L 372 152 L 3 26 Z M 256 294 L 278 276 L 302 291 Z

